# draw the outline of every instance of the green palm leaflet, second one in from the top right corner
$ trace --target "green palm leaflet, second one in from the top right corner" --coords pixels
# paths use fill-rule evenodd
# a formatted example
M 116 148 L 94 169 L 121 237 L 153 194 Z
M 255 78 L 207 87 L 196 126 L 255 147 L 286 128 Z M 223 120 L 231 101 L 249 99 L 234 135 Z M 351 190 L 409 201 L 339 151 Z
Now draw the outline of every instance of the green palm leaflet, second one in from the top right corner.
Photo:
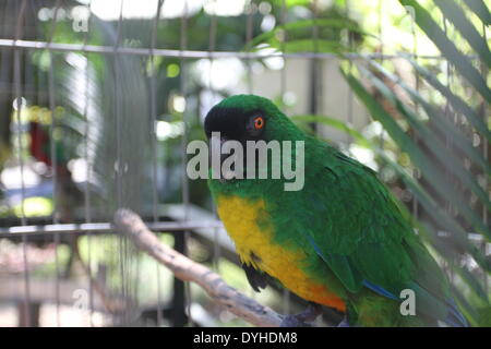
M 479 35 L 476 27 L 466 17 L 463 9 L 458 7 L 454 0 L 434 0 L 434 3 L 440 8 L 443 15 L 452 22 L 452 24 L 460 32 L 460 35 L 466 38 L 469 45 L 478 52 L 482 61 L 491 67 L 491 52 L 486 39 Z

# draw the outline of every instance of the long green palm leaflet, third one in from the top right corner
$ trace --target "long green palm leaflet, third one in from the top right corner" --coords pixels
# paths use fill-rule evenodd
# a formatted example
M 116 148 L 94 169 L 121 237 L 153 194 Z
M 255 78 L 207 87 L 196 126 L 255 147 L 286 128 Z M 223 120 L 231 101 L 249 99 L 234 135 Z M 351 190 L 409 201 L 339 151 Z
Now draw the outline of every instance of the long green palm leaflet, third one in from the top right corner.
M 411 7 L 415 10 L 415 21 L 427 36 L 436 45 L 445 58 L 460 72 L 460 74 L 491 103 L 491 91 L 479 71 L 470 63 L 468 58 L 463 55 L 448 39 L 445 33 L 433 21 L 430 13 L 424 10 L 416 0 L 399 0 L 405 7 Z

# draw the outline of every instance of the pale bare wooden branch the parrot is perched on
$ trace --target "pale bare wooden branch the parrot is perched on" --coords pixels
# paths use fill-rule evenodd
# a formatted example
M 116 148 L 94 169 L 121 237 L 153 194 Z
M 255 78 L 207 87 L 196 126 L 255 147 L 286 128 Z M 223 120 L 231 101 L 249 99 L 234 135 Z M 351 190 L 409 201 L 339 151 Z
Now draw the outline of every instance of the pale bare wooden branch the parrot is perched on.
M 227 285 L 218 274 L 204 265 L 193 262 L 183 254 L 163 244 L 132 210 L 119 209 L 115 214 L 115 225 L 139 249 L 168 267 L 177 278 L 197 284 L 215 302 L 225 306 L 238 317 L 255 326 L 279 326 L 283 315 L 242 294 L 233 287 Z

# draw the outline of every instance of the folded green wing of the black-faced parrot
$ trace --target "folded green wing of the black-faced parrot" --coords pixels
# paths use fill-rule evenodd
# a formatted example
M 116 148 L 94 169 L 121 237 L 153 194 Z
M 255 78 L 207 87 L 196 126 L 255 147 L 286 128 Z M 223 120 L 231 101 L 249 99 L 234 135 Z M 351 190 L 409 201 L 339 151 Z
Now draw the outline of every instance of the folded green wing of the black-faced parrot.
M 346 289 L 370 288 L 398 299 L 412 289 L 419 309 L 445 320 L 451 300 L 438 264 L 403 217 L 375 172 L 327 147 L 315 180 L 306 183 L 316 204 L 308 217 L 308 239 Z M 322 183 L 322 189 L 319 189 Z

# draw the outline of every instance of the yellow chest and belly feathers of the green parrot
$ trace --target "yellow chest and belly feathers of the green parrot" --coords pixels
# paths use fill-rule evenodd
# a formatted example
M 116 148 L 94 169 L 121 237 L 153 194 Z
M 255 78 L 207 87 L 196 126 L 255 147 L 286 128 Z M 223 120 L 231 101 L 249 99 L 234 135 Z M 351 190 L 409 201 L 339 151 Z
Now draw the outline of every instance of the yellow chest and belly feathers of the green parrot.
M 304 273 L 302 264 L 307 255 L 303 251 L 273 240 L 274 230 L 267 221 L 263 201 L 220 195 L 217 210 L 244 264 L 264 270 L 303 299 L 345 310 L 343 300 Z

